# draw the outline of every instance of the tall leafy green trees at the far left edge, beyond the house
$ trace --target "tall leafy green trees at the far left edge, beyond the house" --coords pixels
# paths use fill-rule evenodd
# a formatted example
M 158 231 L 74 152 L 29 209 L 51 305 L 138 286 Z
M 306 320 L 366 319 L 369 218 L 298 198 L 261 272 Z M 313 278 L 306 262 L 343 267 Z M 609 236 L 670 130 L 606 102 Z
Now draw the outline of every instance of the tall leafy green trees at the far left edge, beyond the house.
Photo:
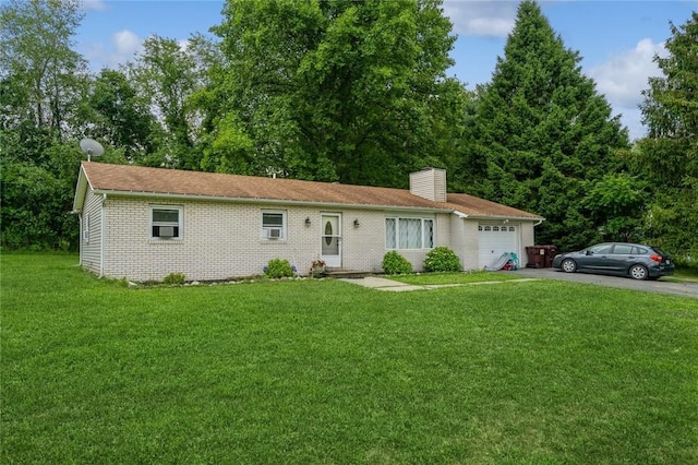
M 0 4 L 3 247 L 76 247 L 70 211 L 88 76 L 72 37 L 82 17 L 77 0 Z

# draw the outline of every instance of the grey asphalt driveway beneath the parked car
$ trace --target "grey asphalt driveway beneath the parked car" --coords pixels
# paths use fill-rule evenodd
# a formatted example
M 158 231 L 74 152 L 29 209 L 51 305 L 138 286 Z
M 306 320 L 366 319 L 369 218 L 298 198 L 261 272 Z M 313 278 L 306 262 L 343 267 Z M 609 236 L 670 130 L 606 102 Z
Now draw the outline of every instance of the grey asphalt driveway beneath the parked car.
M 598 284 L 599 286 L 616 287 L 619 289 L 672 294 L 674 296 L 693 297 L 698 299 L 698 284 L 671 283 L 662 281 L 662 278 L 659 281 L 636 281 L 628 277 L 605 276 L 599 274 L 565 273 L 555 269 L 521 269 L 513 273 L 525 277 Z

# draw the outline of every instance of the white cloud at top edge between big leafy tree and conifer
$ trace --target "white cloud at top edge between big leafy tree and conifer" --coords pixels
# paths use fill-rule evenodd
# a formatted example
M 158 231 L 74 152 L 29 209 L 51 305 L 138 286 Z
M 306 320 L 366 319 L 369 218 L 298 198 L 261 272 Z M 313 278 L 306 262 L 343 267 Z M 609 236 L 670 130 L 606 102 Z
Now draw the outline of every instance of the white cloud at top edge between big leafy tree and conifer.
M 466 36 L 506 37 L 514 28 L 515 1 L 446 0 L 444 14 L 454 24 L 454 33 Z

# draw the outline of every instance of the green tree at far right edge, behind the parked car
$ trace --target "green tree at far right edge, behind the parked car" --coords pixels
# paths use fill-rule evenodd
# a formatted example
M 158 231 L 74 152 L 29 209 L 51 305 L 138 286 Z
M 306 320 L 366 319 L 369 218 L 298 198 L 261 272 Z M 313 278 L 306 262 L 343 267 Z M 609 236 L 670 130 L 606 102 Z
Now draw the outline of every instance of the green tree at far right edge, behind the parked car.
M 669 56 L 654 57 L 662 76 L 651 78 L 641 105 L 647 138 L 633 153 L 653 188 L 646 228 L 649 240 L 679 260 L 698 259 L 698 13 L 671 24 Z M 693 258 L 693 260 L 691 260 Z

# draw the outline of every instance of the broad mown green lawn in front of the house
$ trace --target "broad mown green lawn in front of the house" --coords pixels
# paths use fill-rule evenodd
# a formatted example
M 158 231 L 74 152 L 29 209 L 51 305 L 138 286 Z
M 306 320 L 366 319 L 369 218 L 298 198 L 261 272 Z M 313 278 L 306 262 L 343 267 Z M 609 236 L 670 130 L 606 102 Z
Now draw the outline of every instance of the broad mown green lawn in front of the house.
M 698 463 L 698 300 L 1 257 L 1 463 Z

